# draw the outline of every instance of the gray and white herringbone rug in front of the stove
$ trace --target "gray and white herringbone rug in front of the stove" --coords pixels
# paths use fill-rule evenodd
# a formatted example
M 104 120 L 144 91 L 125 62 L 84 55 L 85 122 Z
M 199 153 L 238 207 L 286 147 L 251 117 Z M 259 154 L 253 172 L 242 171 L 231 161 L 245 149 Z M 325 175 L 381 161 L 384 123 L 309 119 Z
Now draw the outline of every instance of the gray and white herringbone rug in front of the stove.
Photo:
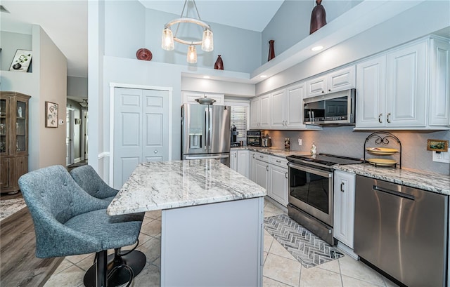
M 306 268 L 344 256 L 288 215 L 264 218 L 264 229 Z

